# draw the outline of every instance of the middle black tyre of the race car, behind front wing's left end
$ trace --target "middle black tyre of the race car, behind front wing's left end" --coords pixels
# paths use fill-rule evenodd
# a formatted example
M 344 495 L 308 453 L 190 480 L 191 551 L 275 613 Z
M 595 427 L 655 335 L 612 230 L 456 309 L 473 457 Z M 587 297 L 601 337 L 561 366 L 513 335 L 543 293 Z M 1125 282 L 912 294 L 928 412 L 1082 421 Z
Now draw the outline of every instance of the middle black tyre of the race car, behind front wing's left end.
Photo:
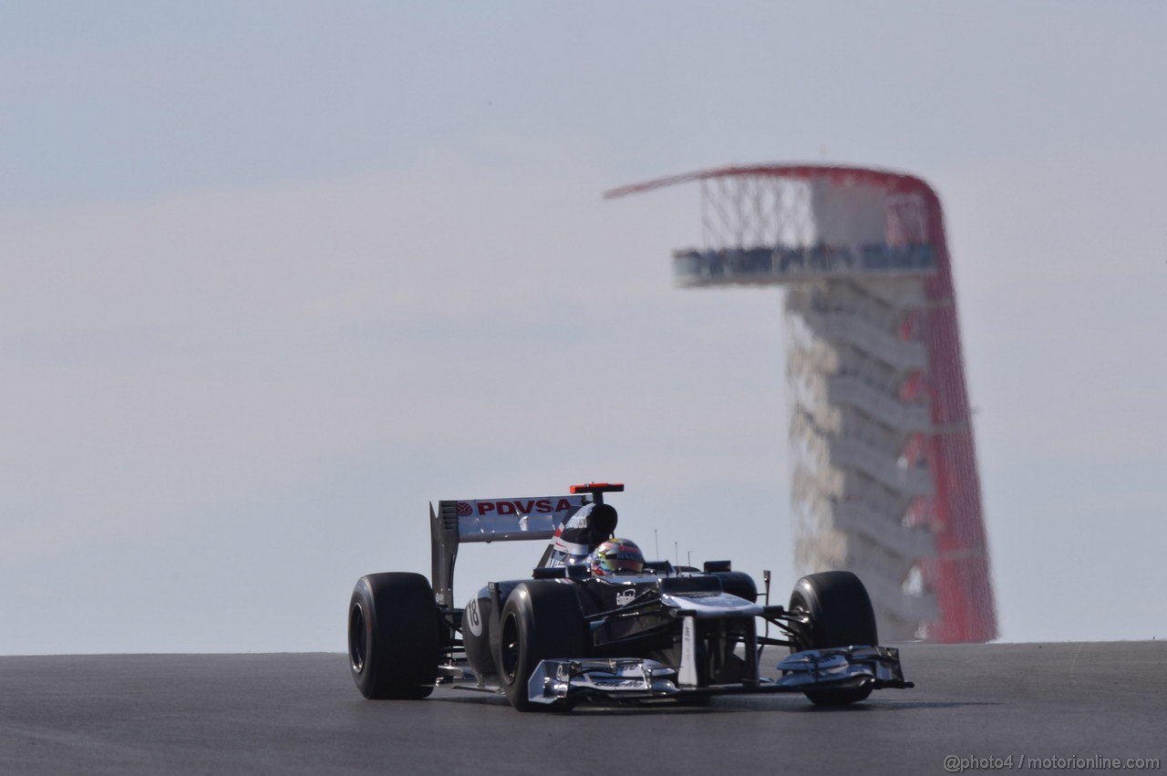
M 584 613 L 573 585 L 523 582 L 506 597 L 498 618 L 498 680 L 520 712 L 550 709 L 532 704 L 527 685 L 539 660 L 586 657 Z

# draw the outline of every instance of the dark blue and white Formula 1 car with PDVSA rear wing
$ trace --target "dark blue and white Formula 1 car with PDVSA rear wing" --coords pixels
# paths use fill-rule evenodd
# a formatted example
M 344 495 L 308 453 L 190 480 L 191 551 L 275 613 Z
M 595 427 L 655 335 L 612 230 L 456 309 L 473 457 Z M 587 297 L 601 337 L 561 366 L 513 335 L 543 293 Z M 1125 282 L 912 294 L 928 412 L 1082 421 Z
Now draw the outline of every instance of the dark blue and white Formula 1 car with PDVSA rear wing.
M 349 664 L 361 693 L 421 699 L 452 686 L 505 694 L 525 712 L 761 692 L 844 705 L 913 686 L 899 650 L 876 645 L 854 574 L 804 576 L 783 607 L 769 603 L 769 572 L 760 595 L 729 561 L 645 561 L 634 543 L 613 538 L 616 510 L 603 494 L 623 489 L 589 483 L 567 496 L 431 504 L 432 580 L 369 574 L 352 590 Z M 455 608 L 459 545 L 520 539 L 548 540 L 531 578 L 490 582 Z M 791 652 L 774 678 L 760 669 L 764 646 Z

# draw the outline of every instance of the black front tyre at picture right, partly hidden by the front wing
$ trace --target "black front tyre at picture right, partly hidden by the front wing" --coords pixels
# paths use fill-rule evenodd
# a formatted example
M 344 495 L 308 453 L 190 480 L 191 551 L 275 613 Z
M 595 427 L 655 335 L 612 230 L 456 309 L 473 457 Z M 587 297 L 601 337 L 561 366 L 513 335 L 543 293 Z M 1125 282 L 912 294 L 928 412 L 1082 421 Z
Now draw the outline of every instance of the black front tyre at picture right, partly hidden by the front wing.
M 867 588 L 851 572 L 803 576 L 790 594 L 788 608 L 810 615 L 810 623 L 797 629 L 792 651 L 879 643 L 872 600 Z M 805 693 L 818 706 L 845 706 L 867 698 L 872 687 L 806 690 Z

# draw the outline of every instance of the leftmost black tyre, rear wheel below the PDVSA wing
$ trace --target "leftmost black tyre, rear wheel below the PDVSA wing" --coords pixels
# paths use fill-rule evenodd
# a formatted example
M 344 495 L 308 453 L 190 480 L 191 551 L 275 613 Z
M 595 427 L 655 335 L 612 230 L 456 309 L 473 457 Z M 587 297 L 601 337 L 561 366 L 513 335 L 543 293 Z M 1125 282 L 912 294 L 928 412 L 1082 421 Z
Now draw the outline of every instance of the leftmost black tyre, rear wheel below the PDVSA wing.
M 368 574 L 349 601 L 349 669 L 365 698 L 418 700 L 438 676 L 438 604 L 421 574 Z

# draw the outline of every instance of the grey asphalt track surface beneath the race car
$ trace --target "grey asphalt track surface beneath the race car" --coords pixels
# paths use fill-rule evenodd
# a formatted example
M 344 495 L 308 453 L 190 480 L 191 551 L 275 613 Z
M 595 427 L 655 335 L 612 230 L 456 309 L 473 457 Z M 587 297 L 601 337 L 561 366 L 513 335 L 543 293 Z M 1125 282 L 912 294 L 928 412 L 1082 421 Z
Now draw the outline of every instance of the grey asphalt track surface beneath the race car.
M 1099 756 L 1167 769 L 1165 642 L 901 657 L 914 690 L 843 709 L 769 694 L 567 714 L 466 691 L 364 700 L 343 655 L 0 657 L 0 772 L 944 774 L 946 756 L 1009 755 L 1013 770 Z M 1070 770 L 1088 771 L 1046 772 Z

